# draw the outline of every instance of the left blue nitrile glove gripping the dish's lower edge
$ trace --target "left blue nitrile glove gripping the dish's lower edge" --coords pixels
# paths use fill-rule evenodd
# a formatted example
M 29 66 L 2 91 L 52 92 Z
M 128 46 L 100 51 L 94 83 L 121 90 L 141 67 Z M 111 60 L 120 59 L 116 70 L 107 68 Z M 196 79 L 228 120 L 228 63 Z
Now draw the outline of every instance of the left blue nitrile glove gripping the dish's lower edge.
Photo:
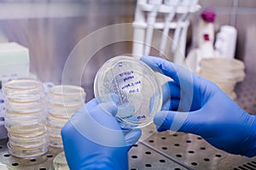
M 127 169 L 128 150 L 140 129 L 124 134 L 114 115 L 113 102 L 90 100 L 61 129 L 68 166 L 73 169 Z

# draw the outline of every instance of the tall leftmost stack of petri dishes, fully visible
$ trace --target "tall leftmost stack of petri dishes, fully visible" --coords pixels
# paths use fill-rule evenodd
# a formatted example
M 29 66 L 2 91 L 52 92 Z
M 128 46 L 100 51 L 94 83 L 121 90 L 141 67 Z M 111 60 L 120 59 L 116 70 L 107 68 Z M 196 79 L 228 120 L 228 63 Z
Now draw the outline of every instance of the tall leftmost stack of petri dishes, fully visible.
M 49 140 L 42 82 L 19 79 L 3 86 L 7 101 L 5 127 L 12 156 L 32 158 L 48 151 Z

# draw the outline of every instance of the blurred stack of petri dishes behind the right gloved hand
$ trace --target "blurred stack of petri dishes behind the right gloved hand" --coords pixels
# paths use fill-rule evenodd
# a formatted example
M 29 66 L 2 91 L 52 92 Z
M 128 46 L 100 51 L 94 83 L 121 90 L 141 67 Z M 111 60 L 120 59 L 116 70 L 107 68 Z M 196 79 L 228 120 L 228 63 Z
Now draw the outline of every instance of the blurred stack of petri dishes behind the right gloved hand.
M 201 59 L 199 75 L 218 85 L 231 99 L 236 99 L 235 86 L 245 77 L 245 65 L 238 59 Z

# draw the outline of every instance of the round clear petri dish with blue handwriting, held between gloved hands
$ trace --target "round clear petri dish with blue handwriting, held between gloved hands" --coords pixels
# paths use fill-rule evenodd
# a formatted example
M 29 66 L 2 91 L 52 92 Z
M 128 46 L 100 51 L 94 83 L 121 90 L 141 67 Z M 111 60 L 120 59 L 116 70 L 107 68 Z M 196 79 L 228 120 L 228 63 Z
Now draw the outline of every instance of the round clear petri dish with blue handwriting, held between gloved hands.
M 154 71 L 129 56 L 109 59 L 96 73 L 94 94 L 99 102 L 114 100 L 121 127 L 145 127 L 160 111 L 162 93 Z M 109 98 L 109 96 L 111 96 Z

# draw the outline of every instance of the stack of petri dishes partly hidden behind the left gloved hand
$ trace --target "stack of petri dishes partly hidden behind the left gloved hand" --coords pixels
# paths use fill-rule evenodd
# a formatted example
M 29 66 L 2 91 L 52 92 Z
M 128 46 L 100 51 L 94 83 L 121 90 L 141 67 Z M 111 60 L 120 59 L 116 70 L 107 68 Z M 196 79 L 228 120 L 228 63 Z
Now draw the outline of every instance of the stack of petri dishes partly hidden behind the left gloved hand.
M 56 85 L 49 88 L 48 132 L 49 145 L 62 148 L 61 128 L 84 105 L 84 88 L 73 85 Z

